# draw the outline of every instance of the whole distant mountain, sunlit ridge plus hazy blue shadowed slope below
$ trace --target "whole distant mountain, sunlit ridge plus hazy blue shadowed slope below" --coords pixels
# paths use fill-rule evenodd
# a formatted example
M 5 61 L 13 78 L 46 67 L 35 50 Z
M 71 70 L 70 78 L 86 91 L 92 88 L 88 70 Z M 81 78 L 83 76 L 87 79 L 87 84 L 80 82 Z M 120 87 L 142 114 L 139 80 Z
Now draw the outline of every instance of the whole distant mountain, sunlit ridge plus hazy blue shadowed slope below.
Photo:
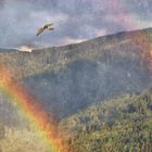
M 152 28 L 147 28 L 31 52 L 0 51 L 0 61 L 41 106 L 63 118 L 151 88 L 151 46 Z

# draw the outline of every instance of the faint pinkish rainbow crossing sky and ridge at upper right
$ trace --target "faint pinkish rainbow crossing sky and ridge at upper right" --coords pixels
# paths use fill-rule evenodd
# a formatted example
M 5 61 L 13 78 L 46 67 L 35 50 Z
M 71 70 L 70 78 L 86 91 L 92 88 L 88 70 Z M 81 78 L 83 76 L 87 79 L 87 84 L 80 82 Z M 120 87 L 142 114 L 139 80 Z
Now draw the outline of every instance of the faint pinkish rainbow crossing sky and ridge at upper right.
M 101 2 L 100 0 L 98 0 Z M 124 5 L 125 7 L 125 5 Z M 143 24 L 142 21 L 135 15 L 131 15 L 123 3 L 118 0 L 107 1 L 107 11 L 111 14 L 116 13 L 117 17 L 113 18 L 117 24 L 124 27 L 126 30 L 139 29 Z M 152 38 L 148 33 L 138 33 L 131 36 L 131 43 L 139 47 L 141 53 L 139 54 L 144 64 L 150 71 L 152 71 Z

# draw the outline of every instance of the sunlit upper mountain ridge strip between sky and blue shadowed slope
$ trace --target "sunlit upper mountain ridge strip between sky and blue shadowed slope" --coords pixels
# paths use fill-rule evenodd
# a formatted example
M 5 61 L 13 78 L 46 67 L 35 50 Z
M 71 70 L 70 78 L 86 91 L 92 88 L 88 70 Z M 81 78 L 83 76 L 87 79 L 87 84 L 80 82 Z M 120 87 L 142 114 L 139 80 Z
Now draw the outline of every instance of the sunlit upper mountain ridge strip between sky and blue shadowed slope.
M 151 53 L 151 43 L 152 28 L 147 28 L 122 31 L 76 45 L 33 50 L 33 52 L 0 49 L 0 63 L 12 69 L 15 77 L 23 78 L 47 69 L 60 68 L 79 59 L 110 62 L 119 54 L 124 58 L 126 55 L 141 58 L 141 62 L 145 62 Z

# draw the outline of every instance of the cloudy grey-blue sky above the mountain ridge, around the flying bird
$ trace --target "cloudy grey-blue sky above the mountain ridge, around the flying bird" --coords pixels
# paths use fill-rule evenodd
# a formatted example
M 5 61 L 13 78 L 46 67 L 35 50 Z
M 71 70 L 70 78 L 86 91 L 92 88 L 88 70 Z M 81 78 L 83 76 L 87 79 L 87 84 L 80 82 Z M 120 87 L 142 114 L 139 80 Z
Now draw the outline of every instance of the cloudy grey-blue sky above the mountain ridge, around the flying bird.
M 152 0 L 0 0 L 0 48 L 61 46 L 152 27 Z

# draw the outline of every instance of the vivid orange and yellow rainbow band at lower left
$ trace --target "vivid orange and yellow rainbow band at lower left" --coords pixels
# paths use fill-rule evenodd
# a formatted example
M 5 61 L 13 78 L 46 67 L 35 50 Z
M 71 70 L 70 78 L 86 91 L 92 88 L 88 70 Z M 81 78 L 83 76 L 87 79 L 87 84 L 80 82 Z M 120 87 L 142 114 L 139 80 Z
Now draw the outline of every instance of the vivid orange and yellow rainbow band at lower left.
M 7 92 L 11 101 L 33 123 L 38 134 L 42 136 L 51 152 L 68 152 L 68 145 L 62 138 L 53 118 L 47 115 L 36 100 L 30 97 L 23 85 L 14 79 L 5 67 L 0 67 L 0 88 Z

